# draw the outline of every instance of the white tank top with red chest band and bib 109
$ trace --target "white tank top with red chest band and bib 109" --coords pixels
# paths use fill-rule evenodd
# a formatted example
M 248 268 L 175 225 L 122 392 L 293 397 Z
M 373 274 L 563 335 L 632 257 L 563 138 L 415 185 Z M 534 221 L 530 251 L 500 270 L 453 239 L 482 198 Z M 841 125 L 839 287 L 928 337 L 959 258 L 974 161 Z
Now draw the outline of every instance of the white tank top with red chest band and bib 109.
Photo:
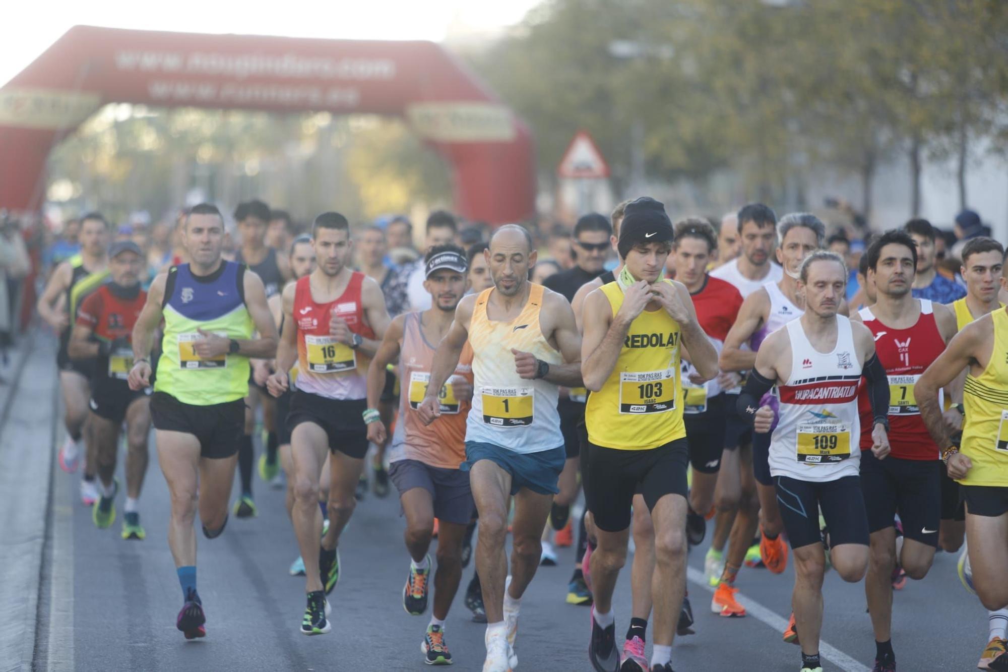
M 861 459 L 861 363 L 851 321 L 837 316 L 837 346 L 827 353 L 812 347 L 799 320 L 785 329 L 791 375 L 777 387 L 780 409 L 770 442 L 770 474 L 816 482 L 856 476 Z

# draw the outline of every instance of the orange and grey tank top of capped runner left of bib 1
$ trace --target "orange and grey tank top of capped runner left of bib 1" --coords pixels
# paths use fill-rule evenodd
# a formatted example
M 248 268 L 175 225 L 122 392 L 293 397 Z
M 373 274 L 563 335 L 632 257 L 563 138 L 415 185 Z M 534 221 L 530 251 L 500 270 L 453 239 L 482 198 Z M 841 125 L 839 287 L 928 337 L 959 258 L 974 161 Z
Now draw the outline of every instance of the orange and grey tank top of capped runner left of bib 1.
M 399 419 L 392 435 L 389 462 L 418 460 L 443 469 L 458 469 L 466 459 L 466 416 L 471 403 L 455 396 L 453 382 L 465 379 L 473 384 L 473 348 L 467 342 L 455 373 L 442 385 L 437 395 L 440 417 L 429 425 L 420 422 L 416 409 L 427 394 L 430 365 L 436 343 L 429 343 L 420 328 L 422 313 L 403 316 L 402 342 L 399 349 Z

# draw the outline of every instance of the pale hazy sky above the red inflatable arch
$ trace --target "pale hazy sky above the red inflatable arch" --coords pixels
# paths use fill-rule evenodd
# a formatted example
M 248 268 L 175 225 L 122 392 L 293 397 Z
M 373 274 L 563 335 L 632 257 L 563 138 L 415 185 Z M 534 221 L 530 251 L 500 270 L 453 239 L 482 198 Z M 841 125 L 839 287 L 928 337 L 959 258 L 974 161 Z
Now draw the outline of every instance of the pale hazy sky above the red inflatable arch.
M 430 39 L 517 23 L 540 0 L 38 0 L 3 10 L 0 86 L 77 24 L 294 37 Z

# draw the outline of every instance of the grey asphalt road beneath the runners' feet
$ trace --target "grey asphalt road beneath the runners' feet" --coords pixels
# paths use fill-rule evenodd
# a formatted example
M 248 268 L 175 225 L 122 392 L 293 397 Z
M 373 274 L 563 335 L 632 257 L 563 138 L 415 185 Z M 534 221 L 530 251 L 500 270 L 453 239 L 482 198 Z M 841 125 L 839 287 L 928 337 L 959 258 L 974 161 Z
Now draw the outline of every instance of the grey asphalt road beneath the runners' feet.
M 24 380 L 52 373 L 52 366 L 29 361 Z M 62 429 L 54 421 L 56 409 L 47 399 L 38 404 L 52 408 L 33 424 L 37 437 L 45 437 L 38 439 L 37 449 L 44 450 L 49 442 L 55 450 L 62 441 Z M 9 441 L 9 433 L 0 438 Z M 408 557 L 394 496 L 370 495 L 359 505 L 341 544 L 343 575 L 331 596 L 333 632 L 306 638 L 298 632 L 303 580 L 287 574 L 297 551 L 282 491 L 257 482 L 257 519 L 232 518 L 220 539 L 200 537 L 199 586 L 208 637 L 186 642 L 174 627 L 180 591 L 165 536 L 167 491 L 154 453 L 141 497 L 147 530 L 142 542 L 121 540 L 118 520 L 108 530 L 97 530 L 90 510 L 78 499 L 79 476 L 65 474 L 54 462 L 39 573 L 34 669 L 425 669 L 419 644 L 427 619 L 410 617 L 401 606 Z M 48 484 L 36 478 L 15 486 L 28 492 Z M 8 500 L 20 496 L 6 494 Z M 118 505 L 121 508 L 121 499 Z M 703 571 L 705 550 L 695 549 L 689 558 L 697 635 L 677 639 L 675 669 L 797 670 L 797 647 L 780 639 L 789 611 L 790 567 L 780 576 L 743 568 L 737 585 L 750 615 L 722 619 L 708 608 L 709 590 L 694 582 Z M 560 549 L 559 555 L 560 565 L 540 568 L 523 600 L 519 670 L 591 669 L 586 654 L 589 609 L 563 601 L 573 549 Z M 463 585 L 472 572 L 470 565 Z M 470 621 L 461 597 L 449 617 L 447 641 L 456 669 L 479 670 L 484 627 Z M 870 669 L 874 646 L 863 586 L 846 584 L 831 573 L 825 601 L 824 668 Z M 621 633 L 629 621 L 629 563 L 615 608 Z M 979 601 L 960 584 L 956 557 L 938 554 L 924 580 L 908 581 L 896 593 L 894 610 L 900 670 L 976 669 L 987 641 L 987 619 Z

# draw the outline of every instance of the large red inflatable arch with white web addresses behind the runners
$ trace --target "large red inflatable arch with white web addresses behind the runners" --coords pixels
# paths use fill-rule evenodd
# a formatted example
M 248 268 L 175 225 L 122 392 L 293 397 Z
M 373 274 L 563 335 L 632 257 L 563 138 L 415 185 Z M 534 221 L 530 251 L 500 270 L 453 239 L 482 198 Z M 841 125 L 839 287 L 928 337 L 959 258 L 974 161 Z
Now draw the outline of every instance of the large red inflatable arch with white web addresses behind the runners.
M 0 89 L 0 208 L 37 209 L 49 150 L 112 102 L 399 116 L 451 163 L 462 215 L 499 224 L 534 212 L 527 128 L 437 44 L 92 26 Z

